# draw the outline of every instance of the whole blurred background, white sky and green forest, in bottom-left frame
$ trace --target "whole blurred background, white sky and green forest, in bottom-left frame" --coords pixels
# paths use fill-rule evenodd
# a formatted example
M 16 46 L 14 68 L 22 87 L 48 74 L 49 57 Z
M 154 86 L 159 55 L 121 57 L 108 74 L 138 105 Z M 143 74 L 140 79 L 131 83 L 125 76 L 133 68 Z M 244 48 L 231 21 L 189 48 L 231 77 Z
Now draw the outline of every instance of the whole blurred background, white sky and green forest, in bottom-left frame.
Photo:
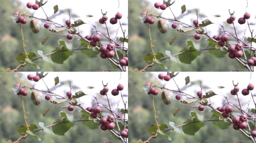
M 36 74 L 35 72 L 19 72 L 18 73 L 7 73 L 2 72 L 0 74 L 0 142 L 7 142 L 8 139 L 15 141 L 21 135 L 17 132 L 17 129 L 24 125 L 24 115 L 22 111 L 21 105 L 21 96 L 17 96 L 13 93 L 13 86 L 16 83 L 24 83 L 28 74 Z M 46 73 L 45 73 L 46 74 Z M 122 94 L 124 95 L 124 100 L 128 101 L 128 74 L 120 73 L 120 72 L 49 72 L 44 80 L 46 85 L 49 88 L 54 86 L 54 78 L 59 77 L 60 83 L 56 86 L 52 92 L 57 93 L 59 95 L 65 96 L 66 92 L 70 90 L 69 81 L 71 81 L 72 94 L 79 90 L 83 90 L 84 93 L 88 94 L 79 99 L 80 103 L 83 107 L 91 107 L 92 104 L 95 104 L 95 99 L 91 96 L 97 96 L 98 101 L 107 105 L 106 96 L 99 95 L 101 89 L 103 89 L 102 81 L 104 84 L 108 83 L 108 87 L 110 91 L 121 83 L 124 85 L 124 90 Z M 120 78 L 121 77 L 121 78 Z M 28 82 L 28 86 L 34 86 L 37 89 L 47 90 L 42 80 L 35 83 L 33 81 Z M 88 89 L 87 86 L 93 86 L 93 89 Z M 28 95 L 24 97 L 25 109 L 29 112 L 27 114 L 28 124 L 36 124 L 38 126 L 38 122 L 43 122 L 45 125 L 52 124 L 57 118 L 59 118 L 59 112 L 64 111 L 67 114 L 73 114 L 75 120 L 79 120 L 81 118 L 80 108 L 75 108 L 73 112 L 69 112 L 66 108 L 61 109 L 58 107 L 51 106 L 49 101 L 45 100 L 45 95 L 40 93 L 42 96 L 42 101 L 40 105 L 34 105 L 30 99 L 30 90 L 28 91 Z M 117 108 L 117 102 L 120 101 L 121 96 L 108 96 L 110 99 L 110 104 L 113 109 L 117 109 L 116 112 L 120 112 L 119 109 L 124 108 L 123 102 L 119 103 Z M 60 104 L 61 107 L 67 107 L 68 104 Z M 48 114 L 43 117 L 43 110 L 46 108 L 50 108 Z M 105 109 L 103 109 L 103 115 L 108 115 Z M 124 116 L 124 114 L 123 114 Z M 128 115 L 126 115 L 128 118 Z M 42 131 L 36 133 L 41 139 L 40 143 L 102 143 L 104 141 L 112 141 L 112 142 L 120 142 L 119 140 L 115 140 L 109 131 L 102 131 L 99 129 L 90 129 L 86 125 L 83 125 L 81 122 L 76 122 L 74 127 L 70 128 L 69 131 L 65 133 L 65 136 L 51 135 L 46 134 Z M 100 134 L 100 137 L 99 137 Z M 33 137 L 27 137 L 21 141 L 21 143 L 38 143 L 36 139 Z

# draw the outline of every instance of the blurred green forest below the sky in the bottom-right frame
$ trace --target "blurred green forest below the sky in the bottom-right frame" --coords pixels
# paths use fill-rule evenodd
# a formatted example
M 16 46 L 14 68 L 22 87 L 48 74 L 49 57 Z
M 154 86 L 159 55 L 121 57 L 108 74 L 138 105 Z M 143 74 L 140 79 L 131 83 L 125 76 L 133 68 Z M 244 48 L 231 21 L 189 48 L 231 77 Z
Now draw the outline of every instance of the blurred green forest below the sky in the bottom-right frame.
M 155 124 L 152 95 L 147 95 L 143 89 L 144 85 L 150 81 L 152 81 L 152 76 L 149 76 L 148 73 L 129 72 L 129 89 L 132 89 L 129 90 L 129 142 L 135 142 L 138 139 L 144 141 L 152 136 L 147 131 L 152 124 Z M 161 91 L 158 91 L 159 94 L 154 99 L 156 111 L 160 111 L 160 113 L 157 113 L 159 124 L 165 123 L 168 125 L 169 121 L 174 122 L 175 125 L 183 124 L 190 117 L 189 112 L 191 110 L 198 114 L 203 113 L 205 119 L 211 118 L 212 114 L 209 112 L 209 108 L 205 108 L 205 111 L 200 113 L 197 108 L 191 109 L 181 106 L 180 102 L 175 99 L 175 96 L 172 96 L 171 104 L 165 105 L 161 100 Z M 189 106 L 195 107 L 193 104 Z M 173 110 L 176 108 L 181 109 L 174 117 Z M 235 141 L 250 143 L 250 140 L 245 140 L 240 131 L 234 130 L 232 125 L 228 129 L 223 130 L 211 122 L 205 122 L 204 127 L 196 132 L 195 136 L 182 135 L 174 131 L 168 131 L 165 134 L 172 138 L 171 143 L 233 143 Z M 162 136 L 158 136 L 156 139 L 152 139 L 150 143 L 170 143 L 170 141 Z

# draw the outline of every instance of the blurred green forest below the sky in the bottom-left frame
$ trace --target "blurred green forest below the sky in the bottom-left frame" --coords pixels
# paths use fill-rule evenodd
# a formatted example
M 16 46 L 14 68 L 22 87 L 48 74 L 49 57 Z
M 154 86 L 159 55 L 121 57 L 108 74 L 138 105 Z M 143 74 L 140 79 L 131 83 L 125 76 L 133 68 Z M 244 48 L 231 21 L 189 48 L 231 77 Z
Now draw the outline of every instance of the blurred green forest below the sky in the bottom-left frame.
M 17 129 L 24 123 L 24 115 L 21 105 L 21 96 L 17 96 L 13 93 L 13 86 L 16 83 L 20 83 L 22 79 L 17 76 L 16 73 L 2 72 L 0 74 L 0 142 L 7 142 L 7 140 L 16 141 L 20 135 Z M 54 79 L 52 79 L 54 80 Z M 77 85 L 73 85 L 74 87 Z M 80 109 L 76 108 L 73 112 L 68 112 L 67 109 L 61 109 L 50 106 L 50 103 L 43 98 L 40 105 L 34 105 L 30 99 L 31 91 L 28 91 L 28 95 L 24 96 L 25 109 L 29 112 L 27 114 L 28 124 L 36 124 L 39 127 L 38 122 L 43 122 L 45 125 L 50 125 L 60 117 L 60 111 L 64 111 L 67 114 L 73 114 L 75 120 L 81 118 Z M 100 99 L 103 102 L 102 99 Z M 96 101 L 92 101 L 96 103 Z M 104 101 L 105 103 L 106 101 Z M 110 102 L 110 104 L 112 104 Z M 63 105 L 60 105 L 63 106 Z M 50 108 L 48 114 L 43 117 L 43 110 Z M 105 110 L 104 110 L 105 111 Z M 82 122 L 76 122 L 74 127 L 71 127 L 64 136 L 51 135 L 43 131 L 35 133 L 42 139 L 40 143 L 103 143 L 104 141 L 119 142 L 115 140 L 109 131 L 102 131 L 98 129 L 90 129 Z M 36 139 L 29 136 L 26 139 L 21 140 L 20 143 L 39 143 Z

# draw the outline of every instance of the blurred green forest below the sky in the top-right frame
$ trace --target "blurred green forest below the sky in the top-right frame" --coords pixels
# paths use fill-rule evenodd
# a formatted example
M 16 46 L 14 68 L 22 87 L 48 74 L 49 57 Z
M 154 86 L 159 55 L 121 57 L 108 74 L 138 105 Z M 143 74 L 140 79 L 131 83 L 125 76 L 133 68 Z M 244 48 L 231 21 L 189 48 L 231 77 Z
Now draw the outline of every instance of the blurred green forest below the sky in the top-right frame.
M 129 47 L 131 49 L 129 51 L 129 70 L 132 71 L 134 70 L 134 68 L 138 68 L 139 70 L 141 70 L 147 65 L 147 63 L 144 61 L 144 57 L 152 52 L 150 50 L 149 34 L 147 31 L 148 25 L 141 23 L 140 18 L 138 17 L 140 16 L 141 12 L 148 11 L 150 9 L 146 6 L 144 0 L 129 0 L 128 7 Z M 175 3 L 173 5 L 173 8 L 180 9 L 180 7 L 177 7 Z M 186 17 L 189 18 L 189 15 L 186 15 Z M 171 28 L 172 23 L 170 22 L 167 23 L 167 33 L 161 34 L 157 28 L 158 20 L 156 18 L 154 19 L 155 23 L 153 25 L 150 25 L 150 30 L 152 39 L 156 40 L 156 42 L 153 42 L 153 45 L 155 45 L 155 52 L 164 53 L 165 50 L 169 50 L 172 54 L 179 53 L 180 50 L 182 50 L 182 48 L 186 46 L 186 39 L 188 39 L 188 37 L 177 34 L 176 29 Z M 191 34 L 188 33 L 188 35 Z M 168 42 L 171 37 L 177 37 L 177 39 L 170 46 Z M 189 39 L 193 42 L 197 42 L 193 38 Z M 206 48 L 208 45 L 207 41 L 205 41 L 205 36 L 202 36 L 199 42 L 201 48 Z M 236 60 L 229 58 L 228 54 L 226 54 L 226 57 L 224 58 L 217 58 L 208 50 L 202 51 L 201 55 L 196 57 L 196 59 L 193 60 L 191 64 L 179 64 L 174 63 L 170 60 L 162 61 L 162 63 L 164 63 L 165 66 L 168 67 L 168 71 L 229 71 L 232 69 L 247 71 L 246 69 L 242 69 Z M 159 65 L 154 65 L 153 67 L 147 69 L 147 71 L 166 70 Z

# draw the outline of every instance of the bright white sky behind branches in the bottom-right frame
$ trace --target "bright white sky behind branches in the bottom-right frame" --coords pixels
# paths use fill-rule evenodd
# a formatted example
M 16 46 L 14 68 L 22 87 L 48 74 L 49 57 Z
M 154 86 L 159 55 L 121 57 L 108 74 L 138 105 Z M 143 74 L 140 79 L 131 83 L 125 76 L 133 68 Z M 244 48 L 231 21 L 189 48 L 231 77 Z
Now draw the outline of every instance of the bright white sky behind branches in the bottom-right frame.
M 158 77 L 159 73 L 166 74 L 166 72 L 151 72 L 154 76 Z M 148 76 L 148 74 L 146 74 Z M 240 98 L 240 101 L 243 101 L 244 108 L 247 108 L 247 102 L 252 98 L 251 95 L 244 96 L 241 94 L 241 91 L 244 88 L 247 88 L 247 85 L 249 83 L 252 83 L 255 86 L 255 89 L 252 90 L 253 95 L 256 94 L 256 73 L 252 73 L 252 78 L 250 79 L 250 72 L 180 72 L 176 77 L 175 81 L 179 88 L 183 88 L 185 86 L 185 77 L 189 76 L 190 81 L 196 81 L 201 80 L 202 85 L 206 85 L 210 87 L 209 90 L 213 90 L 216 94 L 227 96 L 230 93 L 230 90 L 234 88 L 232 80 L 234 80 L 234 83 L 238 84 L 238 87 L 240 88 L 238 92 L 238 97 Z M 152 81 L 154 81 L 155 78 L 152 78 Z M 160 82 L 162 85 L 166 83 L 166 81 Z M 218 89 L 217 86 L 224 86 L 225 88 Z M 166 88 L 168 89 L 174 89 L 178 90 L 177 86 L 175 85 L 173 80 L 170 80 L 167 82 Z M 199 85 L 193 85 L 185 90 L 183 90 L 185 93 L 188 93 L 190 95 L 196 95 L 196 92 L 201 90 Z M 160 91 L 160 90 L 159 90 Z M 205 95 L 205 92 L 207 92 L 203 89 L 203 95 Z M 170 93 L 172 96 L 173 102 L 176 100 L 175 95 L 173 93 Z M 223 96 L 213 96 L 210 98 L 211 103 L 215 108 L 218 106 L 222 106 L 222 101 L 224 99 Z M 233 96 L 233 95 L 232 95 Z M 235 96 L 236 97 L 236 96 Z M 182 96 L 183 100 L 186 100 L 185 97 Z M 209 98 L 208 98 L 209 99 Z M 255 98 L 256 99 L 256 98 Z M 208 100 L 209 101 L 209 100 Z M 233 102 L 234 104 L 238 105 L 237 102 Z M 255 105 L 253 104 L 253 101 L 251 100 L 250 108 L 255 108 Z

